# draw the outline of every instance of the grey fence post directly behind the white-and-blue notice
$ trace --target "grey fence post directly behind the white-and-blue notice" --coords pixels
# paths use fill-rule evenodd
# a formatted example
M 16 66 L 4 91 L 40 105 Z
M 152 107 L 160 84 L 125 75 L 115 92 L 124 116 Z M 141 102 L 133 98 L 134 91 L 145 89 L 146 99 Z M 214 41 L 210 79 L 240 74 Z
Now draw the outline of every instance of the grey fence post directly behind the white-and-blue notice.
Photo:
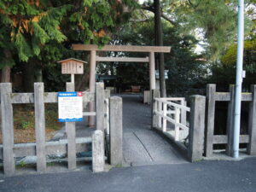
M 74 84 L 67 82 L 67 91 L 74 91 Z M 68 169 L 77 167 L 76 160 L 76 126 L 75 122 L 66 122 L 67 131 L 67 166 Z

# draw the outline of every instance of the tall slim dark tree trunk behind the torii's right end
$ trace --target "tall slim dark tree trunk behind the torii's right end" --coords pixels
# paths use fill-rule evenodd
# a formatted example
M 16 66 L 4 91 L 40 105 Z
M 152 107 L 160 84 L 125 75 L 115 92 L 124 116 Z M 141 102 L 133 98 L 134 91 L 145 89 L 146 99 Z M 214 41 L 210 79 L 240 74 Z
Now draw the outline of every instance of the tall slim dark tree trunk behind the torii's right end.
M 154 32 L 155 45 L 163 46 L 163 30 L 161 27 L 160 0 L 154 0 Z M 165 62 L 164 54 L 157 54 L 157 59 L 160 72 L 160 96 L 166 97 L 166 80 L 165 80 Z

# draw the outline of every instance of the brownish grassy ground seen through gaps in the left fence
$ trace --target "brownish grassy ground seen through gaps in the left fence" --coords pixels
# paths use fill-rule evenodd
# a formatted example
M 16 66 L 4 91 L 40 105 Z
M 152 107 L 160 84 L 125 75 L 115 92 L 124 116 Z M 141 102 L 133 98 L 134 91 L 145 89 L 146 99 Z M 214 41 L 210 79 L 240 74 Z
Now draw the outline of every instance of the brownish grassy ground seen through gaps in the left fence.
M 45 137 L 49 140 L 54 136 L 55 131 L 61 129 L 61 123 L 58 122 L 57 103 L 45 103 Z M 15 104 L 14 110 L 14 128 L 15 143 L 35 142 L 35 112 L 33 104 Z M 2 131 L 0 131 L 0 143 L 2 143 Z

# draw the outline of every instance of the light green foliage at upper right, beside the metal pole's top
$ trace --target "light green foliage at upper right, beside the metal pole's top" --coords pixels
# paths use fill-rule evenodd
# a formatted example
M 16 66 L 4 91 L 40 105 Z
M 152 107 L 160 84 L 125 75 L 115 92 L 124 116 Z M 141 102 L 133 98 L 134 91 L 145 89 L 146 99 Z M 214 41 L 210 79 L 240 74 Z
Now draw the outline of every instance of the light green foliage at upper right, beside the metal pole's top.
M 144 4 L 150 8 L 150 2 Z M 245 7 L 245 33 L 248 35 L 255 22 L 255 1 L 245 1 Z M 236 0 L 164 0 L 161 8 L 180 35 L 194 35 L 204 44 L 212 61 L 217 61 L 236 39 Z

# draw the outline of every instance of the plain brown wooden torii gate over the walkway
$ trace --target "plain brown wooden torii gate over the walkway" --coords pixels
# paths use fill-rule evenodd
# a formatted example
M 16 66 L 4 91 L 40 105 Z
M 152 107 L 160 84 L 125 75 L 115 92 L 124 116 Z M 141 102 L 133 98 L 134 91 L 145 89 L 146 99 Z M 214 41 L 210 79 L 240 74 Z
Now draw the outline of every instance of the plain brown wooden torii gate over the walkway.
M 73 50 L 90 51 L 90 92 L 95 92 L 96 84 L 96 62 L 97 61 L 119 61 L 119 62 L 148 62 L 149 63 L 149 84 L 150 90 L 155 89 L 155 61 L 154 53 L 169 53 L 171 47 L 167 46 L 136 46 L 136 45 L 105 45 L 101 49 L 96 44 L 73 44 Z M 144 52 L 148 57 L 100 57 L 96 52 Z M 90 111 L 94 111 L 94 105 L 90 103 Z M 94 124 L 94 119 L 89 119 L 89 125 Z

